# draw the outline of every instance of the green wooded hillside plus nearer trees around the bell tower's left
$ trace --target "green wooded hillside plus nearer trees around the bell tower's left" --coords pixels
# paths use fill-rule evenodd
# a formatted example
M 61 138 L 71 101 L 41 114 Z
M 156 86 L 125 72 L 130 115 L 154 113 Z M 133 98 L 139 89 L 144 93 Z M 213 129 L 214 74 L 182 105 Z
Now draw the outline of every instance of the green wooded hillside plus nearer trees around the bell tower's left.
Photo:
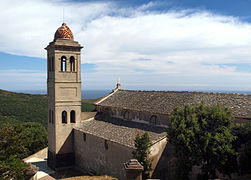
M 83 100 L 93 111 L 97 99 Z M 47 96 L 0 90 L 0 179 L 27 179 L 23 158 L 47 146 Z

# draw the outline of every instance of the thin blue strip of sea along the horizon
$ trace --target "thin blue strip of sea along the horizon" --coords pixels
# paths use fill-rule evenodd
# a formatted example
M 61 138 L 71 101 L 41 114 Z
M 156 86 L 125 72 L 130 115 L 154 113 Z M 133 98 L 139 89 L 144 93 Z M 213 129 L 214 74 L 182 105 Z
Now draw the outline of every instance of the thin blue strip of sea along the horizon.
M 196 91 L 196 90 L 194 90 Z M 239 93 L 239 94 L 251 94 L 251 91 L 226 91 L 226 90 L 209 90 L 209 91 L 201 91 L 200 92 L 218 92 L 218 93 Z M 17 90 L 15 92 L 26 93 L 26 94 L 47 94 L 46 90 Z M 82 91 L 82 99 L 97 99 L 100 97 L 104 97 L 107 94 L 111 93 L 112 90 L 83 90 Z

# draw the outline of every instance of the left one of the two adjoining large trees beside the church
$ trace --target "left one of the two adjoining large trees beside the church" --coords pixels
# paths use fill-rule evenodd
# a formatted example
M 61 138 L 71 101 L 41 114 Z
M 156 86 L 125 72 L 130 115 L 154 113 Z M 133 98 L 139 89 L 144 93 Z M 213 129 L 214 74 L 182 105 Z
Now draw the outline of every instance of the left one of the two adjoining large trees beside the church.
M 170 116 L 168 128 L 169 142 L 174 146 L 176 161 L 176 179 L 189 179 L 192 166 L 199 164 L 194 154 L 199 149 L 196 135 L 199 133 L 199 124 L 195 108 L 186 105 L 184 109 L 175 108 Z

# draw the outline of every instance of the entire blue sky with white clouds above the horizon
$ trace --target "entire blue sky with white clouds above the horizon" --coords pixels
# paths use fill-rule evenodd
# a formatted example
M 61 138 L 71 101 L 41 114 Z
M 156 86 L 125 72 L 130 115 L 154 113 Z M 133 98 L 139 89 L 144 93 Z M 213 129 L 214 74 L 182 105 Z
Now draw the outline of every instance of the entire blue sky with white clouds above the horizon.
M 63 15 L 64 11 L 64 15 Z M 64 21 L 82 88 L 251 91 L 251 0 L 1 0 L 0 89 L 46 90 Z

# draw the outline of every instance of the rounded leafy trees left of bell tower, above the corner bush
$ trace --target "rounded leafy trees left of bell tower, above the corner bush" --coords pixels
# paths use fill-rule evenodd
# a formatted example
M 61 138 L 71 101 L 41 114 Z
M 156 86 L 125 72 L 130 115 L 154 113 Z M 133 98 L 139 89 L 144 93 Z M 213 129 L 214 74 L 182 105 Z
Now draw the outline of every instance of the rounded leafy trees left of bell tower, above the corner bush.
M 47 131 L 40 123 L 6 123 L 0 128 L 0 160 L 11 155 L 22 159 L 46 146 Z

